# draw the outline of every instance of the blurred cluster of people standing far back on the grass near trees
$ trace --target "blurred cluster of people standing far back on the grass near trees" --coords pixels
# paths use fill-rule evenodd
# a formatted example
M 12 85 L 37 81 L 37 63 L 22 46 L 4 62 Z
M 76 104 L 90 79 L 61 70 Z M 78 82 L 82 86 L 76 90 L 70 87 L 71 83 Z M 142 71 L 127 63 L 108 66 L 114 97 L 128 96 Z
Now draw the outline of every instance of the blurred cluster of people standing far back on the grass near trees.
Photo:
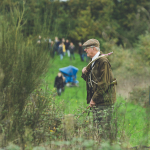
M 70 60 L 75 60 L 75 51 L 78 51 L 78 54 L 80 56 L 81 61 L 84 61 L 84 59 L 87 61 L 87 55 L 84 52 L 84 49 L 82 47 L 82 43 L 79 42 L 78 46 L 75 47 L 73 42 L 70 42 L 69 39 L 62 38 L 61 40 L 58 37 L 55 37 L 54 41 L 51 40 L 49 37 L 47 39 L 43 39 L 39 35 L 39 39 L 37 40 L 37 44 L 46 43 L 45 49 L 48 49 L 50 52 L 50 55 L 52 58 L 55 57 L 55 55 L 60 56 L 60 60 L 64 58 L 65 55 L 68 55 Z

